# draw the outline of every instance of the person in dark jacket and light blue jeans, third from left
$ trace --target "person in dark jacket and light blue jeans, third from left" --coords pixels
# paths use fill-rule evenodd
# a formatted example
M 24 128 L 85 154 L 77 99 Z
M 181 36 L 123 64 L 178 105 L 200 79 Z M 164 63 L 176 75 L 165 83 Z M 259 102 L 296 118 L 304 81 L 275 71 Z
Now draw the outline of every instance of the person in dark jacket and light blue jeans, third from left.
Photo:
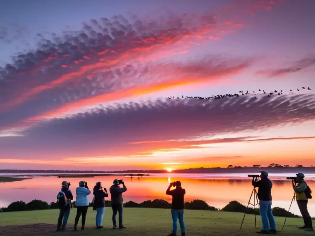
M 104 228 L 102 225 L 103 222 L 103 216 L 105 214 L 105 197 L 108 197 L 108 193 L 106 188 L 102 187 L 101 182 L 97 182 L 94 189 L 94 202 L 93 202 L 93 210 L 96 210 L 96 228 Z

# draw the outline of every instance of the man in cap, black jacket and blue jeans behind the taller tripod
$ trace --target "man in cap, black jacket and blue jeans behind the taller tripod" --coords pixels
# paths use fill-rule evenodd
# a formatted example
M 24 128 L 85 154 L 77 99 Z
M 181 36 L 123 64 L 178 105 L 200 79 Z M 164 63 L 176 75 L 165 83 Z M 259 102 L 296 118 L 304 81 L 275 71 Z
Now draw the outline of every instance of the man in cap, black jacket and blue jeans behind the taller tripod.
M 269 234 L 269 233 L 277 233 L 276 230 L 276 222 L 272 215 L 271 205 L 272 205 L 272 182 L 268 179 L 268 173 L 266 171 L 260 171 L 261 175 L 260 181 L 257 181 L 257 178 L 254 179 L 252 184 L 255 188 L 258 188 L 258 199 L 259 199 L 259 213 L 261 215 L 262 220 L 262 230 L 257 233 L 261 234 Z M 269 225 L 268 225 L 269 221 Z

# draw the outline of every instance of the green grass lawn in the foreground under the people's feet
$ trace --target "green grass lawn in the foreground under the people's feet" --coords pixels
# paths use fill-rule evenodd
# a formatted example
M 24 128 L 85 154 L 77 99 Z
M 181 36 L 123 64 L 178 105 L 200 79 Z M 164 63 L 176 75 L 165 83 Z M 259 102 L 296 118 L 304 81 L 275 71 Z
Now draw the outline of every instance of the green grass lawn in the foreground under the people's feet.
M 112 229 L 112 209 L 106 208 L 103 225 L 104 229 L 94 229 L 96 212 L 89 208 L 87 214 L 86 230 L 72 231 L 76 209 L 72 209 L 64 232 L 54 232 L 59 210 L 43 211 L 20 211 L 0 213 L 0 235 L 125 235 L 139 236 L 167 235 L 172 230 L 172 220 L 169 209 L 152 208 L 124 208 L 123 223 L 125 229 Z M 186 210 L 184 221 L 186 226 L 186 235 L 257 235 L 255 230 L 254 215 L 246 215 L 243 227 L 240 224 L 243 219 L 243 213 L 229 213 L 221 211 L 198 211 Z M 261 218 L 256 216 L 257 230 L 261 229 Z M 276 217 L 278 231 L 281 231 L 284 223 L 283 217 Z M 118 216 L 117 216 L 118 220 Z M 34 225 L 37 224 L 37 225 Z M 314 235 L 314 232 L 305 232 L 297 228 L 302 226 L 301 218 L 288 218 L 283 232 L 279 235 Z M 78 225 L 81 228 L 81 221 Z M 177 235 L 180 235 L 178 225 Z

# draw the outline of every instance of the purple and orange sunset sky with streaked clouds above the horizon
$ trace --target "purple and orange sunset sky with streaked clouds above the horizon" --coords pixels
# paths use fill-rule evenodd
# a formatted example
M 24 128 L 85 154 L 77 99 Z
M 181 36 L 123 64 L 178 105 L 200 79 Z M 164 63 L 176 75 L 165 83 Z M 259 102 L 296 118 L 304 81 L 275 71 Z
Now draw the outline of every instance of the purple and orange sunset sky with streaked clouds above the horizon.
M 0 168 L 315 165 L 313 9 L 1 1 Z

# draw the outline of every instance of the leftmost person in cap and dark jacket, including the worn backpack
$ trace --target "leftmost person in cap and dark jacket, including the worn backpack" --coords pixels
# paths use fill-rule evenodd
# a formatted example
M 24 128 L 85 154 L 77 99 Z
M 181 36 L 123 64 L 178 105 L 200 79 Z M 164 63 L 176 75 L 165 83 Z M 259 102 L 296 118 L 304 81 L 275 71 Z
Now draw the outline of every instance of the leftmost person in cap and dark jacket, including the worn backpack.
M 70 215 L 70 208 L 72 208 L 71 200 L 73 200 L 73 195 L 69 187 L 70 183 L 68 183 L 67 181 L 62 181 L 61 190 L 57 195 L 57 203 L 59 206 L 57 231 L 63 231 L 66 229 L 68 218 Z

